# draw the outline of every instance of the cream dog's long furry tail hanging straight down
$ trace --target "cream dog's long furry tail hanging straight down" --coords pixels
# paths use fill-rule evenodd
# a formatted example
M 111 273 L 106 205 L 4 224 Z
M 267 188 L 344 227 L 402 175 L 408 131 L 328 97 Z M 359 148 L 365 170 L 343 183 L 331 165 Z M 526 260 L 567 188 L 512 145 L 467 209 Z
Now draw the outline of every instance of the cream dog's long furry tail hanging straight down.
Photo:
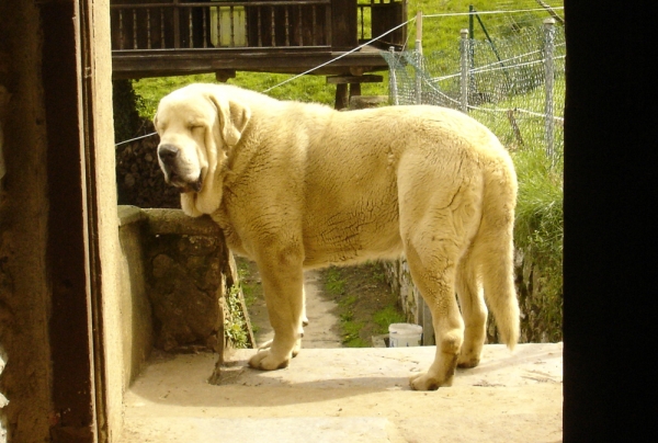
M 517 174 L 504 152 L 485 168 L 481 223 L 470 260 L 477 266 L 487 306 L 492 311 L 501 342 L 513 349 L 519 341 L 519 302 L 514 289 L 514 207 Z

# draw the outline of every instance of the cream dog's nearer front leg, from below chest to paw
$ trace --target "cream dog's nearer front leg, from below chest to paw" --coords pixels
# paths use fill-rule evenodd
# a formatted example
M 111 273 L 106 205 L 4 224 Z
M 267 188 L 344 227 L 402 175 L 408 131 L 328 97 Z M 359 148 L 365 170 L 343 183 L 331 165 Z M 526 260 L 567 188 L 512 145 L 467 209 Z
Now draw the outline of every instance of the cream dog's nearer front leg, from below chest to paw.
M 274 339 L 249 360 L 258 370 L 286 367 L 302 343 L 304 273 L 299 254 L 264 253 L 257 260 Z

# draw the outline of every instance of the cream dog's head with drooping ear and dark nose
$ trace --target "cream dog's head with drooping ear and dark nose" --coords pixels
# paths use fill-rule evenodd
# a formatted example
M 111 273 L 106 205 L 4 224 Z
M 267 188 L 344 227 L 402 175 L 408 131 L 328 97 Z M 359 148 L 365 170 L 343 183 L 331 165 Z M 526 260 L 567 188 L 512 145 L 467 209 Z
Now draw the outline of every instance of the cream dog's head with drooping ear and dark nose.
M 226 159 L 249 123 L 249 106 L 230 88 L 191 84 L 164 96 L 154 124 L 164 180 L 181 191 L 183 211 L 212 214 L 222 201 Z

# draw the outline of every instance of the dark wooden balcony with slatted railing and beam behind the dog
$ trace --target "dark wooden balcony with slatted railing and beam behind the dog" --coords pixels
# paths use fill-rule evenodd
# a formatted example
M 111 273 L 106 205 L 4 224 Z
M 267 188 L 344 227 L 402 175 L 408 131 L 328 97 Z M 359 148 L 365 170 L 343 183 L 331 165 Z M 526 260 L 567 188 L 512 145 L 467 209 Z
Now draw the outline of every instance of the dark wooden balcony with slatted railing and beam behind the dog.
M 366 0 L 361 0 L 366 1 Z M 384 70 L 378 52 L 400 46 L 406 0 L 113 0 L 114 78 L 235 71 L 299 73 L 360 44 L 316 75 Z

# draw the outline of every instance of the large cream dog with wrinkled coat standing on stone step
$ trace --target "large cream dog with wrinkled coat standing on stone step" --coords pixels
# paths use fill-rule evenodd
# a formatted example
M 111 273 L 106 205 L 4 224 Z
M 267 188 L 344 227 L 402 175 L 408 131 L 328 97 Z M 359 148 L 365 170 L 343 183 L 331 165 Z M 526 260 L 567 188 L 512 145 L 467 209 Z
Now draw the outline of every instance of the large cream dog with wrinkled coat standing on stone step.
M 155 124 L 183 211 L 209 214 L 229 248 L 258 264 L 274 339 L 252 367 L 285 367 L 299 351 L 304 269 L 402 253 L 436 336 L 413 389 L 450 386 L 456 366 L 479 363 L 483 292 L 502 341 L 515 344 L 517 178 L 470 117 L 435 106 L 337 112 L 192 84 L 162 99 Z

